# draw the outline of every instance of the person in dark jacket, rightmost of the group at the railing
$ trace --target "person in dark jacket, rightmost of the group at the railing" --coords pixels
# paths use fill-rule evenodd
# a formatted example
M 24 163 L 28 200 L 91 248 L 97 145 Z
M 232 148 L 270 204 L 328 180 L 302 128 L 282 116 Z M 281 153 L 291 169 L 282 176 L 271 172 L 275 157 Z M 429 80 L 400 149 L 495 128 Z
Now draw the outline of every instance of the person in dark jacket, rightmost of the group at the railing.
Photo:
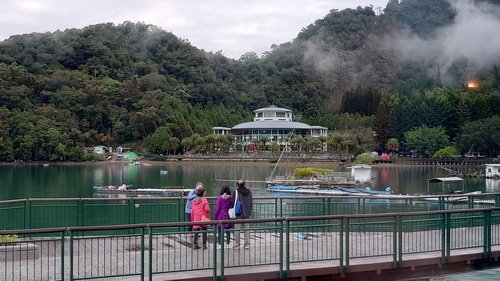
M 236 182 L 236 191 L 238 195 L 238 201 L 241 202 L 243 207 L 243 212 L 236 216 L 236 219 L 249 219 L 252 216 L 252 192 L 245 186 L 245 180 L 239 179 Z M 236 202 L 235 202 L 236 203 Z M 243 246 L 245 249 L 250 249 L 250 226 L 248 223 L 235 224 L 234 228 L 238 231 L 234 232 L 234 246 L 233 248 L 240 247 L 240 232 L 239 229 L 243 227 L 244 230 L 244 242 Z

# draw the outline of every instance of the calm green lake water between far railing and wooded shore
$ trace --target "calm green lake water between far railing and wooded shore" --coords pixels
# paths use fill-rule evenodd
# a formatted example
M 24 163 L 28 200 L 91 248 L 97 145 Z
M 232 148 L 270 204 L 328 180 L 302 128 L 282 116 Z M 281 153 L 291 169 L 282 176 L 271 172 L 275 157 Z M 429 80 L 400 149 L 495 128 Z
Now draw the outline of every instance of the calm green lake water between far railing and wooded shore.
M 295 167 L 332 168 L 328 164 L 280 164 L 275 175 L 292 175 Z M 192 187 L 201 181 L 208 195 L 217 195 L 222 185 L 235 186 L 235 180 L 244 178 L 255 195 L 269 195 L 263 181 L 269 177 L 274 164 L 228 162 L 175 162 L 151 166 L 121 163 L 96 164 L 42 164 L 0 165 L 0 200 L 20 198 L 93 197 L 93 186 L 127 184 L 135 188 L 160 188 L 165 186 Z M 162 174 L 160 171 L 168 171 Z M 347 171 L 345 168 L 336 171 Z M 395 193 L 427 193 L 427 179 L 450 176 L 449 172 L 431 166 L 380 166 L 373 167 L 374 188 L 383 190 L 390 186 Z M 257 181 L 257 182 L 252 182 Z M 460 190 L 460 184 L 447 186 Z M 434 192 L 440 186 L 434 185 Z M 466 179 L 464 190 L 500 191 L 498 181 Z M 432 191 L 432 190 L 431 190 Z

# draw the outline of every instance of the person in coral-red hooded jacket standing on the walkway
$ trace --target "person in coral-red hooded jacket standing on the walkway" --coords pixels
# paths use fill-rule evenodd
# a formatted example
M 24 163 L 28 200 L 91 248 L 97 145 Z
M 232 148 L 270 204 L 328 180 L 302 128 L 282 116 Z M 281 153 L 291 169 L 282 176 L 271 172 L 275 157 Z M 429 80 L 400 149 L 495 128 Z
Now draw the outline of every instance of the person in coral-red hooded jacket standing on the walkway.
M 208 206 L 208 200 L 205 197 L 205 188 L 201 187 L 196 189 L 196 197 L 193 199 L 193 205 L 191 207 L 191 221 L 199 222 L 208 220 L 210 220 L 210 207 Z M 207 226 L 193 225 L 193 230 L 195 230 L 193 249 L 200 249 L 200 246 L 198 245 L 199 231 L 202 231 L 203 250 L 207 249 Z

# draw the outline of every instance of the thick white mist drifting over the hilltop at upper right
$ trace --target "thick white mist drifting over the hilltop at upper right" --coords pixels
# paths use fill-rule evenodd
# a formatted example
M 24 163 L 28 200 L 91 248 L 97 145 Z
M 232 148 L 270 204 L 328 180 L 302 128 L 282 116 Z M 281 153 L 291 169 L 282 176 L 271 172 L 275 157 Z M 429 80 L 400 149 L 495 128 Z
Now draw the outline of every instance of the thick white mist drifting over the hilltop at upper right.
M 428 65 L 429 75 L 441 69 L 443 82 L 457 85 L 468 79 L 477 79 L 500 64 L 500 7 L 487 2 L 450 1 L 453 21 L 434 30 L 426 37 L 410 29 L 386 40 L 401 62 Z M 460 68 L 458 70 L 457 68 Z

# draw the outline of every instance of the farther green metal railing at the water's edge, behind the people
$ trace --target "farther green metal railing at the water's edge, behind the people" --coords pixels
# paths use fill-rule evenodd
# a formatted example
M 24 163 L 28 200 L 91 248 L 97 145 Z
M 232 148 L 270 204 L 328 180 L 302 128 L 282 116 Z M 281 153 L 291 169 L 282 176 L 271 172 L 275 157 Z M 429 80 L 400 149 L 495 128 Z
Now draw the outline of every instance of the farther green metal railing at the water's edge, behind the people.
M 457 200 L 460 199 L 460 200 Z M 457 201 L 455 201 L 457 200 Z M 213 209 L 215 198 L 209 198 Z M 0 229 L 184 221 L 185 198 L 38 198 L 0 201 Z M 254 218 L 500 207 L 500 193 L 446 196 L 257 197 Z

